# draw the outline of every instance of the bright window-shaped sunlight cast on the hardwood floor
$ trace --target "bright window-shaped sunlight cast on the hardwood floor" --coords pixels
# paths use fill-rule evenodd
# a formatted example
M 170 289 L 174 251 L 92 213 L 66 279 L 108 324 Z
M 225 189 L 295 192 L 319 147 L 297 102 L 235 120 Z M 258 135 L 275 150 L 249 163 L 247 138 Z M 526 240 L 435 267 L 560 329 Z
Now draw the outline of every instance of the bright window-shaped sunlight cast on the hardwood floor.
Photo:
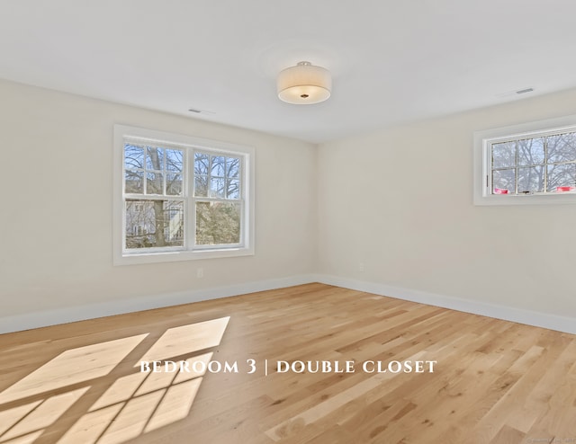
M 222 317 L 167 329 L 139 360 L 130 352 L 149 333 L 60 353 L 0 393 L 0 444 L 32 443 L 58 430 L 58 444 L 120 444 L 184 419 L 213 352 L 191 355 L 220 345 L 228 323 Z M 190 371 L 142 372 L 142 360 L 182 360 Z M 61 421 L 74 425 L 62 432 Z

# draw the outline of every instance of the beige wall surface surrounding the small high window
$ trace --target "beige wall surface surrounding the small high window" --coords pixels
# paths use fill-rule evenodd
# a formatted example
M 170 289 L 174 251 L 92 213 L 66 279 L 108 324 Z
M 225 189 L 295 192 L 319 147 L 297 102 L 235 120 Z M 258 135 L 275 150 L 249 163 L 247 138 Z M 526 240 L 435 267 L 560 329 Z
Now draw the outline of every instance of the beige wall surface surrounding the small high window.
M 576 317 L 576 206 L 473 206 L 473 131 L 574 113 L 576 90 L 320 146 L 320 273 Z

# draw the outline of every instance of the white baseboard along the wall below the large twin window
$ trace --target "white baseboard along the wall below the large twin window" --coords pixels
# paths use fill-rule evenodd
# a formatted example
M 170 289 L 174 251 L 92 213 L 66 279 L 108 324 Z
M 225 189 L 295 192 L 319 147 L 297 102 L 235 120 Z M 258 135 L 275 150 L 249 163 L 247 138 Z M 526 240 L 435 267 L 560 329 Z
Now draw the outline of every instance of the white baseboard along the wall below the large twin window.
M 5 316 L 0 317 L 0 334 L 30 330 L 31 328 L 46 327 L 49 325 L 67 324 L 103 316 L 122 315 L 164 306 L 178 306 L 202 300 L 217 299 L 219 297 L 244 295 L 269 289 L 284 289 L 285 287 L 311 282 L 316 282 L 316 276 L 306 274 L 274 280 L 258 280 L 213 289 L 197 289 L 149 297 L 133 297 L 99 304 L 70 306 L 31 312 L 23 315 Z

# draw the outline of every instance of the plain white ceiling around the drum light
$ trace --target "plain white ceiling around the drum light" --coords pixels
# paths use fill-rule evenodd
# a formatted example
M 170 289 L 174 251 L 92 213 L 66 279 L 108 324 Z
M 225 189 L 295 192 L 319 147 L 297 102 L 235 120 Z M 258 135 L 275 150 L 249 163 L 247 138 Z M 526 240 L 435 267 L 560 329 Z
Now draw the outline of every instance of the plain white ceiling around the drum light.
M 572 88 L 575 16 L 574 0 L 0 0 L 0 77 L 322 142 Z M 331 71 L 328 102 L 277 99 L 302 60 Z

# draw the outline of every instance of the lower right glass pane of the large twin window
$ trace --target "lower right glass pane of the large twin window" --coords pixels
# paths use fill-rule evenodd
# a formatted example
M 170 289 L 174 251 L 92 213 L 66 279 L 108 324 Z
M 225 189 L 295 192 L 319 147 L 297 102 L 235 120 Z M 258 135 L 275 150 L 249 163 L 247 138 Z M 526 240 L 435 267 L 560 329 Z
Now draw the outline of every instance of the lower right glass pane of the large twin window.
M 196 202 L 196 244 L 240 243 L 239 203 Z

